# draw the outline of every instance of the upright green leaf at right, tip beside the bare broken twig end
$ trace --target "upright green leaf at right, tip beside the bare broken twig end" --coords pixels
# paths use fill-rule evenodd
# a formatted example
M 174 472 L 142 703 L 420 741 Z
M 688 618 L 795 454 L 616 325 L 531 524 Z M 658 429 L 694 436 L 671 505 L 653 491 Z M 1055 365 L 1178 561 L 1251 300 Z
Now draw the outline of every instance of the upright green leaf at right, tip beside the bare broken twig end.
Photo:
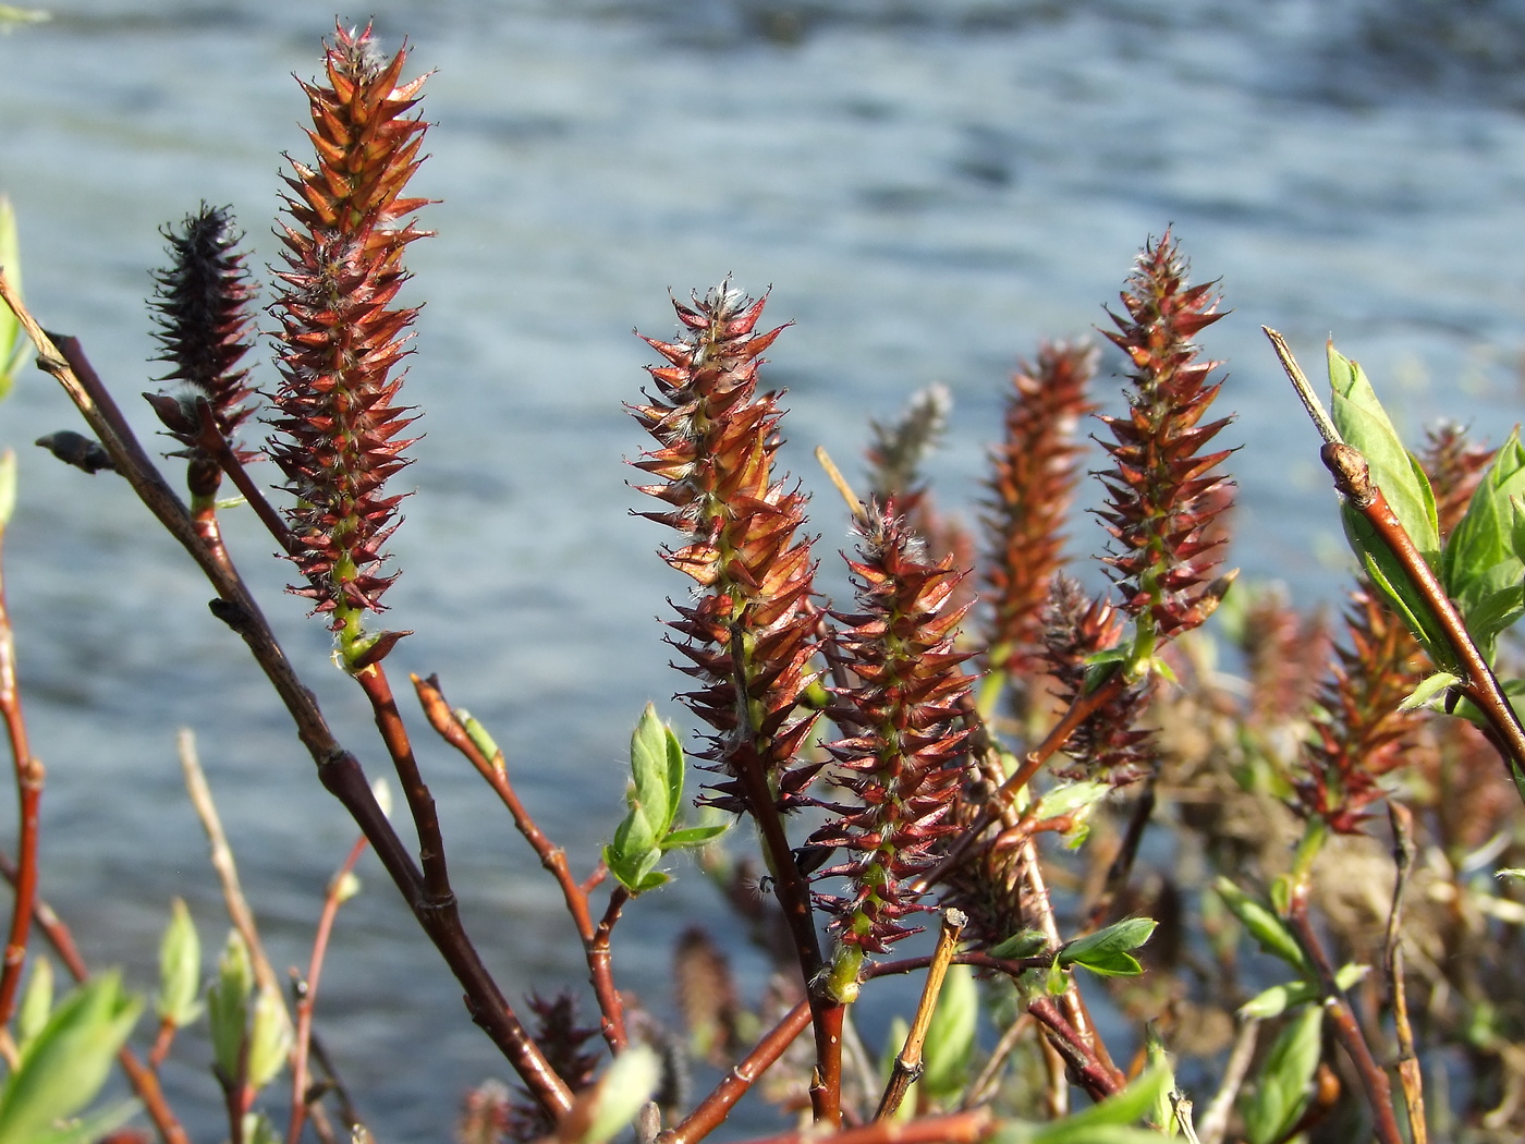
M 1435 493 L 1424 470 L 1403 447 L 1365 371 L 1328 343 L 1331 413 L 1345 444 L 1371 465 L 1371 479 L 1388 499 L 1409 538 L 1430 563 L 1440 552 Z

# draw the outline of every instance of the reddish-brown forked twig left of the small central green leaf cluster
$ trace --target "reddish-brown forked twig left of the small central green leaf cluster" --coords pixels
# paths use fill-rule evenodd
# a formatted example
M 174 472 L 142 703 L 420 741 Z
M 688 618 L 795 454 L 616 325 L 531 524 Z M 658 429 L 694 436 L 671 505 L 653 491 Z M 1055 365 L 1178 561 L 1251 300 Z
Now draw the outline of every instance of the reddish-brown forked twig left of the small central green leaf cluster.
M 445 702 L 445 696 L 439 689 L 438 677 L 430 676 L 429 679 L 419 679 L 418 676 L 413 676 L 413 688 L 418 691 L 418 702 L 424 708 L 424 715 L 429 718 L 429 725 L 439 732 L 441 738 L 465 755 L 471 766 L 476 767 L 477 773 L 486 779 L 488 786 L 493 787 L 493 792 L 508 808 L 518 833 L 525 836 L 531 850 L 534 850 L 540 857 L 540 865 L 551 872 L 551 876 L 557 880 L 557 885 L 561 888 L 561 897 L 566 901 L 567 914 L 572 915 L 572 924 L 576 927 L 578 938 L 583 941 L 583 952 L 587 958 L 589 981 L 593 985 L 593 995 L 598 998 L 598 1007 L 602 1017 L 604 1040 L 608 1043 L 612 1052 L 622 1052 L 627 1045 L 625 1005 L 615 985 L 613 961 L 608 949 L 608 930 L 615 924 L 613 918 L 619 915 L 619 909 L 628 898 L 628 892 L 624 888 L 615 889 L 608 903 L 612 914 L 605 914 L 604 921 L 595 927 L 593 915 L 589 908 L 589 894 L 592 894 L 598 883 L 602 882 L 602 876 L 595 871 L 595 874 L 598 874 L 596 877 L 589 879 L 584 885 L 578 885 L 576 879 L 572 876 L 572 868 L 567 865 L 566 851 L 546 837 L 544 831 L 538 827 L 529 810 L 520 801 L 518 793 L 514 790 L 514 784 L 508 778 L 506 769 L 502 769 L 499 761 L 490 760 L 483 755 L 467 734 L 467 729 Z

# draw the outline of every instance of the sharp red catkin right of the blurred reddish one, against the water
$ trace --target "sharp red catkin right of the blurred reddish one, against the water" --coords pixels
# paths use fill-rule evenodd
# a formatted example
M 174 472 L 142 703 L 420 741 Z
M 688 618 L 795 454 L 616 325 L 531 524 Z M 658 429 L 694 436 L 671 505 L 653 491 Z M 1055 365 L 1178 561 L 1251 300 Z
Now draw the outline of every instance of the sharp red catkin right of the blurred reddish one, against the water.
M 1212 578 L 1223 545 L 1214 525 L 1231 505 L 1217 470 L 1232 450 L 1202 450 L 1232 418 L 1203 423 L 1222 381 L 1209 381 L 1218 363 L 1199 360 L 1191 342 L 1223 314 L 1215 284 L 1191 285 L 1186 272 L 1170 232 L 1145 246 L 1121 294 L 1125 313 L 1112 314 L 1118 329 L 1107 333 L 1133 363 L 1128 415 L 1100 418 L 1113 467 L 1098 474 L 1107 488 L 1100 516 L 1115 540 L 1106 563 L 1136 621 L 1130 671 L 1162 639 L 1200 624 L 1226 587 Z

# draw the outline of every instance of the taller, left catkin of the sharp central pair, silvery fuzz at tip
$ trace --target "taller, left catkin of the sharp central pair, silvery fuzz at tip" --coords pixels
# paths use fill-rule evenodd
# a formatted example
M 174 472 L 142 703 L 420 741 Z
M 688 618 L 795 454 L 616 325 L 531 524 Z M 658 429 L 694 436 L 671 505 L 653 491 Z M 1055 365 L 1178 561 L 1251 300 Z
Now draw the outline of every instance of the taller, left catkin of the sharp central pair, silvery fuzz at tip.
M 776 395 L 756 392 L 761 354 L 782 331 L 756 331 L 766 300 L 729 281 L 692 305 L 674 300 L 686 333 L 645 339 L 666 365 L 648 366 L 650 404 L 630 406 L 659 445 L 633 462 L 659 477 L 640 491 L 669 506 L 644 516 L 679 531 L 682 545 L 662 557 L 700 586 L 692 604 L 674 606 L 668 642 L 700 682 L 682 699 L 715 731 L 700 754 L 726 778 L 708 801 L 752 815 L 762 811 L 759 775 L 776 808 L 791 810 L 820 769 L 795 766 L 814 721 L 801 699 L 816 679 L 819 616 L 810 538 L 799 535 L 807 497 L 775 477 L 782 412 Z

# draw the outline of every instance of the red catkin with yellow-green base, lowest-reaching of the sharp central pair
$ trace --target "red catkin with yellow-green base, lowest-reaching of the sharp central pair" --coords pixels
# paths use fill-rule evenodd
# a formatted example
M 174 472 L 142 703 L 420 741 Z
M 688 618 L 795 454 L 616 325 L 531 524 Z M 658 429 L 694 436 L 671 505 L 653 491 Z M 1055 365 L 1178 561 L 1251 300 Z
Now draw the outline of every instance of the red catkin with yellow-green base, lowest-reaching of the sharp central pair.
M 834 781 L 857 804 L 833 807 L 834 822 L 814 836 L 848 854 L 817 874 L 849 883 L 843 895 L 817 895 L 836 915 L 828 988 L 842 999 L 856 988 L 863 955 L 917 932 L 903 918 L 929 909 L 907 883 L 933 865 L 938 840 L 958 828 L 950 810 L 968 761 L 961 718 L 968 654 L 953 650 L 965 609 L 950 606 L 965 574 L 947 558 L 933 563 L 894 502 L 871 505 L 860 532 L 859 558 L 848 560 L 859 612 L 837 616 L 848 625 L 839 642 L 857 682 L 831 708 L 854 734 L 828 747 L 843 770 Z

